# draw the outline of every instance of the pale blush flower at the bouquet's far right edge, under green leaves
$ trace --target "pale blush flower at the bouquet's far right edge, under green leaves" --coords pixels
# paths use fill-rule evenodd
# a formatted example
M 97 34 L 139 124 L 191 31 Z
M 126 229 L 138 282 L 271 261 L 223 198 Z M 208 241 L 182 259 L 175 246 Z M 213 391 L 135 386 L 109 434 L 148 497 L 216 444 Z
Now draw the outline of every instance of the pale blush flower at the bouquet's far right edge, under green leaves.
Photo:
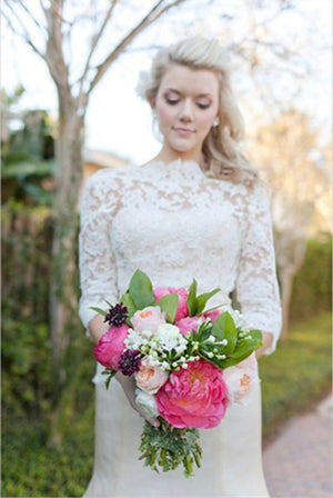
M 260 382 L 255 353 L 224 370 L 223 378 L 228 386 L 229 401 L 246 405 L 251 399 L 254 385 Z

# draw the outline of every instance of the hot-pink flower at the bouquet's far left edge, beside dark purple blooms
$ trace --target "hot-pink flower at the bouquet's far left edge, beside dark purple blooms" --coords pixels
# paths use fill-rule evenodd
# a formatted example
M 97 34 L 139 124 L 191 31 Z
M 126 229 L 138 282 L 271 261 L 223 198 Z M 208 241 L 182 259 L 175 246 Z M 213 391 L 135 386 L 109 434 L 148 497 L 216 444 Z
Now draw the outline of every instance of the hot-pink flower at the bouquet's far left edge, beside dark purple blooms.
M 93 349 L 97 360 L 104 367 L 118 370 L 118 363 L 125 347 L 124 340 L 128 337 L 128 332 L 129 327 L 127 325 L 121 327 L 111 325 Z

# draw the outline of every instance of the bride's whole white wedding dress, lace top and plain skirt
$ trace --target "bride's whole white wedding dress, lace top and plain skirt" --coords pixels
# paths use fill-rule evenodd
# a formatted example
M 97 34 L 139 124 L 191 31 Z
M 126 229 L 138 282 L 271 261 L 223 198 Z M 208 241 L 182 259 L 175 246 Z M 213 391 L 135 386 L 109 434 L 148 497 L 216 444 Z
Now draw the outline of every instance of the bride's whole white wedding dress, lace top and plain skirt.
M 281 326 L 272 228 L 265 188 L 208 178 L 192 161 L 101 170 L 87 183 L 80 232 L 80 316 L 115 303 L 140 268 L 154 286 L 236 290 L 248 322 L 274 337 Z M 268 352 L 271 352 L 268 351 Z M 100 366 L 99 366 L 100 367 Z M 260 387 L 248 406 L 233 406 L 220 426 L 201 430 L 202 467 L 157 474 L 138 460 L 143 419 L 98 368 L 95 455 L 85 497 L 263 498 Z

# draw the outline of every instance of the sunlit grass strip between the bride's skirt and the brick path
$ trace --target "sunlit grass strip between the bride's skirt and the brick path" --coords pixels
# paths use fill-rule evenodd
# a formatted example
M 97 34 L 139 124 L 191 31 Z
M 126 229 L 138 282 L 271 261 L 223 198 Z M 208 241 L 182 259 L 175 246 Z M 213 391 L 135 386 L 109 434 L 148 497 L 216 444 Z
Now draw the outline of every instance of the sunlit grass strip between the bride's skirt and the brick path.
M 293 325 L 285 342 L 260 360 L 263 438 L 271 440 L 291 417 L 325 396 L 332 375 L 331 313 Z

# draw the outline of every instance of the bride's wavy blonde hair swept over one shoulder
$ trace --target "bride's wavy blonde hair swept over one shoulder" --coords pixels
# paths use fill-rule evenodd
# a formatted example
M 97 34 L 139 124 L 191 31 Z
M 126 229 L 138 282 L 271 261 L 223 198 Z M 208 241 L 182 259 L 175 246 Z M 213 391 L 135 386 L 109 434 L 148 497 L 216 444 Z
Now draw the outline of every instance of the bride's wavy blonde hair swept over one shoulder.
M 218 40 L 202 37 L 188 38 L 163 48 L 154 57 L 150 74 L 141 73 L 138 93 L 149 101 L 154 99 L 165 71 L 174 63 L 212 70 L 220 81 L 220 123 L 211 128 L 202 147 L 206 175 L 235 182 L 256 179 L 256 171 L 239 147 L 244 137 L 244 121 L 231 88 L 226 51 Z

